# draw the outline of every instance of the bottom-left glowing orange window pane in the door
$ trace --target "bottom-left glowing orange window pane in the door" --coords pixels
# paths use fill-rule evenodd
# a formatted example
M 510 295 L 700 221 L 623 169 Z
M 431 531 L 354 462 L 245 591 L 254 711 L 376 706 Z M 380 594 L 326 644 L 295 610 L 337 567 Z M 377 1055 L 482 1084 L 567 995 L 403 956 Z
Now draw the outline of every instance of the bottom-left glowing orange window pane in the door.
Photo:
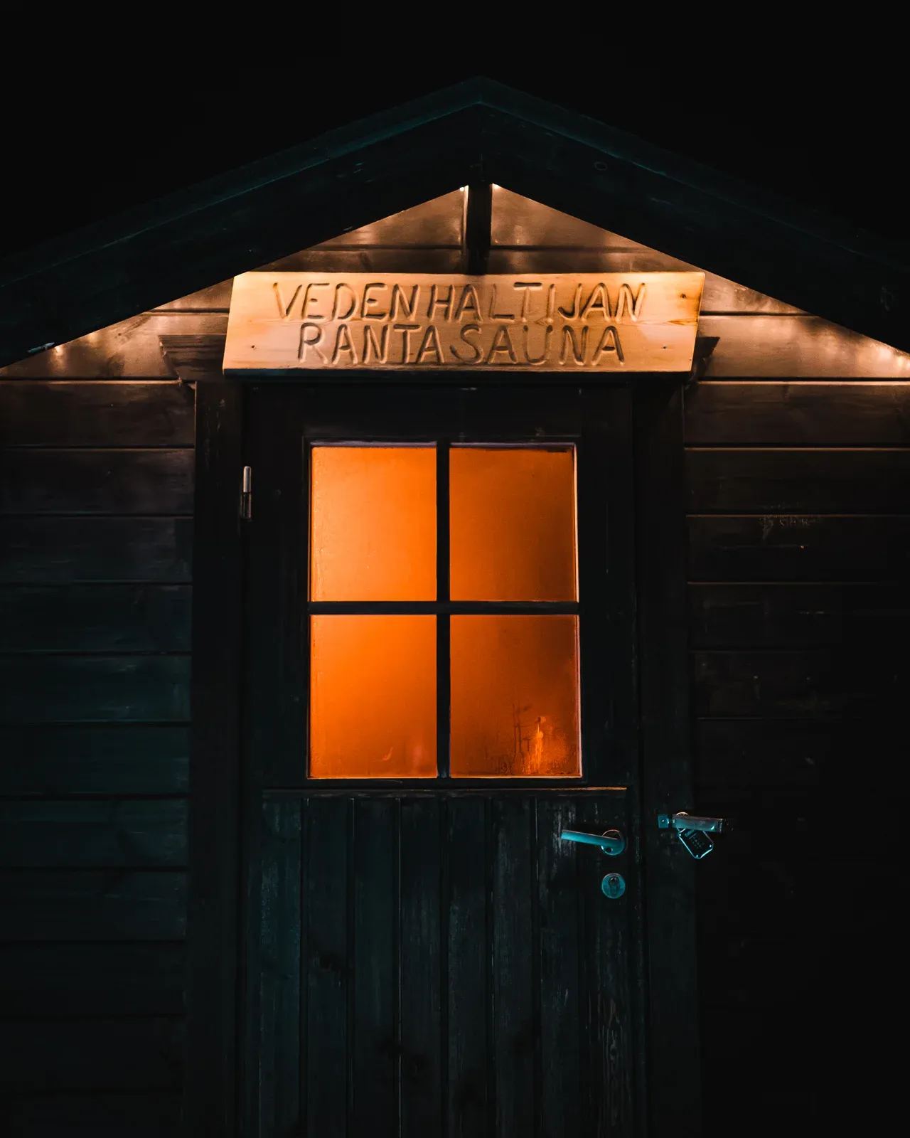
M 314 616 L 309 774 L 436 775 L 436 618 Z

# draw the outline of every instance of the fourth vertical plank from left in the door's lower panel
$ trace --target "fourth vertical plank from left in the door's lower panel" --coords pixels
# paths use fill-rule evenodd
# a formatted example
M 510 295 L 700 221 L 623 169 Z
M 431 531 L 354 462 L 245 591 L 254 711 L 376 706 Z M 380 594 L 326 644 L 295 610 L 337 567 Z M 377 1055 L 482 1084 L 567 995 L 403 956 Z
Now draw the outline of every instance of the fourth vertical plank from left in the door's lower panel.
M 442 1124 L 440 814 L 439 798 L 402 801 L 402 1138 L 438 1136 Z

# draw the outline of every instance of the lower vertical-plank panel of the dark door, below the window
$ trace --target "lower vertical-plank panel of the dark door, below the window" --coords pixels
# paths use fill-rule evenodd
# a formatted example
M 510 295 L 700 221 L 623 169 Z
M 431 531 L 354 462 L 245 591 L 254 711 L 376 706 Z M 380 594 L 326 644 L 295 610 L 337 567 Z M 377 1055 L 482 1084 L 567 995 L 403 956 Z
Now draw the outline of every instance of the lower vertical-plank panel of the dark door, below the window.
M 634 871 L 559 836 L 628 836 L 621 791 L 314 792 L 262 820 L 263 1136 L 631 1132 Z

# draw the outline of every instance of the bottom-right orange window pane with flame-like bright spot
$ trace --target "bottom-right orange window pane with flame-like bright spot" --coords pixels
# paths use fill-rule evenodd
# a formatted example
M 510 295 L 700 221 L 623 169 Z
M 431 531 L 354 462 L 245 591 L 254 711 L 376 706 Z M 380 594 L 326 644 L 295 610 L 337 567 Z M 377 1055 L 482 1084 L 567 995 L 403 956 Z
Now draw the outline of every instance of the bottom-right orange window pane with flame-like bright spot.
M 452 774 L 580 774 L 578 617 L 453 616 Z

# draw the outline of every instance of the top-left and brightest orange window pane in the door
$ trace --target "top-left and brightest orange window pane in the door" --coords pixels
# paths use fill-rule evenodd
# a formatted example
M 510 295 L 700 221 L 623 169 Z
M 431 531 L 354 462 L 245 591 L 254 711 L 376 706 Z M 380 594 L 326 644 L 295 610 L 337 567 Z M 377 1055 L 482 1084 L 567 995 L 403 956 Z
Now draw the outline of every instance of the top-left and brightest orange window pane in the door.
M 313 601 L 436 600 L 436 451 L 314 446 Z

